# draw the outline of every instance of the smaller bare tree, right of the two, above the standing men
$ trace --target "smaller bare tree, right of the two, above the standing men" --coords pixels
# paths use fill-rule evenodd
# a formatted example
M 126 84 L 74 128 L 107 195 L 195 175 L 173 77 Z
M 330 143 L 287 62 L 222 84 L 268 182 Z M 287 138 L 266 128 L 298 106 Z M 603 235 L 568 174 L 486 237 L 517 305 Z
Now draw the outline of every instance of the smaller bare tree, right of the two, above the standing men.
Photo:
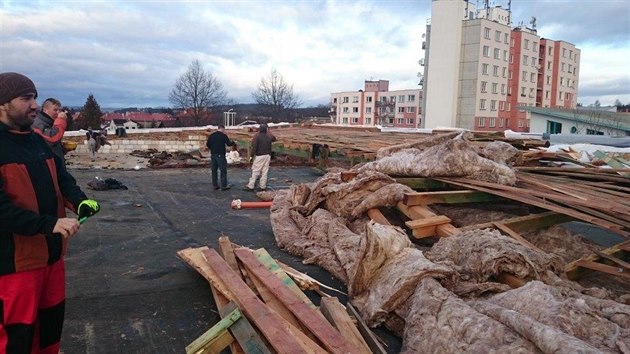
M 252 97 L 256 103 L 267 106 L 274 118 L 286 116 L 302 105 L 299 97 L 293 92 L 293 84 L 289 85 L 275 68 L 271 69 L 268 77 L 260 79 L 260 85 L 252 93 Z

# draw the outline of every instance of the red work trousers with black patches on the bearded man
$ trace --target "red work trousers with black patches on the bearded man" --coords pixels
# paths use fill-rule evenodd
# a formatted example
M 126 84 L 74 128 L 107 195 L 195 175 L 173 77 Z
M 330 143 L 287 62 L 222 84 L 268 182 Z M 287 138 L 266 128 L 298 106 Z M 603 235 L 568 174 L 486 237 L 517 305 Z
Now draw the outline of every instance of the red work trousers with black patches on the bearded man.
M 59 352 L 65 310 L 63 259 L 0 275 L 0 354 Z

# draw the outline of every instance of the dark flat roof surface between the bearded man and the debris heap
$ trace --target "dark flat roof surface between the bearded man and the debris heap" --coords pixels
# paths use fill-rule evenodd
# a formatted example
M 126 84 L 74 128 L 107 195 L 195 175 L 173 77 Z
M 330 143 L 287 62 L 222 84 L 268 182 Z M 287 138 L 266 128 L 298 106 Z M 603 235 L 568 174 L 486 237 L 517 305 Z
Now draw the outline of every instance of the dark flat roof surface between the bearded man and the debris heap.
M 101 211 L 68 245 L 61 342 L 65 354 L 183 353 L 219 316 L 208 282 L 176 252 L 204 245 L 214 248 L 222 235 L 236 244 L 264 247 L 272 257 L 346 291 L 325 270 L 303 265 L 302 259 L 276 246 L 268 209 L 231 209 L 233 199 L 257 200 L 242 190 L 250 176 L 247 168 L 228 168 L 228 181 L 234 186 L 227 191 L 212 188 L 206 168 L 70 173 L 100 203 Z M 268 185 L 287 188 L 319 176 L 311 167 L 272 166 Z M 114 178 L 128 189 L 91 190 L 87 183 L 95 177 Z M 318 304 L 317 297 L 312 300 Z M 399 338 L 384 329 L 375 332 L 389 352 L 400 351 Z

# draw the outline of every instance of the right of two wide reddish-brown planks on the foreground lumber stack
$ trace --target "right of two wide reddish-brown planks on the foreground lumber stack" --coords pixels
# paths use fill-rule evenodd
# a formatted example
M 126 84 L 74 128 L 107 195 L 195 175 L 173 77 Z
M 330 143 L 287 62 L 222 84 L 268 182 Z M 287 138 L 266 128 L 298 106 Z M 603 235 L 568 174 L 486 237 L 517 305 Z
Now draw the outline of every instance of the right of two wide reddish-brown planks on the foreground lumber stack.
M 317 315 L 313 308 L 302 302 L 280 279 L 258 262 L 250 251 L 236 249 L 234 253 L 245 268 L 260 279 L 291 310 L 300 323 L 321 341 L 324 349 L 333 353 L 358 353 L 337 330 Z

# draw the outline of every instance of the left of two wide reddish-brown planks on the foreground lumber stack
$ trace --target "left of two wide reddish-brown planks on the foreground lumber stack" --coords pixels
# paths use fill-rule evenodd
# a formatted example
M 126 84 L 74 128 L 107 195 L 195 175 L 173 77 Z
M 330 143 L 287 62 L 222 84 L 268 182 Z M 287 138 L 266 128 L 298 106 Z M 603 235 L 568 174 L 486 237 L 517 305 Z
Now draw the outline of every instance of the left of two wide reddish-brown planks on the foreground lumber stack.
M 238 307 L 242 309 L 250 321 L 254 322 L 276 351 L 279 353 L 307 352 L 295 337 L 286 335 L 285 326 L 280 316 L 272 312 L 258 299 L 256 294 L 215 250 L 205 249 L 202 252 L 217 276 L 234 293 L 234 301 Z

